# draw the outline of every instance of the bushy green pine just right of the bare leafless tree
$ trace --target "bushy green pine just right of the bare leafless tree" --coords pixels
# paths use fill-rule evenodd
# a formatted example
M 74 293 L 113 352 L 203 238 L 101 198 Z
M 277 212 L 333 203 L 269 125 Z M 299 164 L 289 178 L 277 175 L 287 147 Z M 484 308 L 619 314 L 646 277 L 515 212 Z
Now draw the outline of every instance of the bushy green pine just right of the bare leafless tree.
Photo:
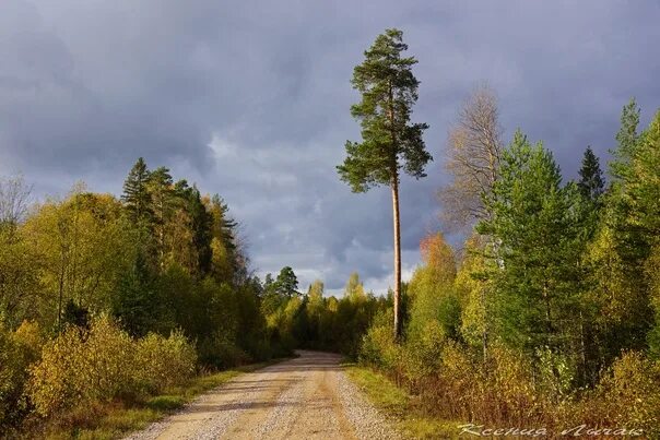
M 570 349 L 578 311 L 573 209 L 577 189 L 562 188 L 552 154 L 516 132 L 504 152 L 500 179 L 487 201 L 493 218 L 479 231 L 500 243 L 495 275 L 499 336 L 533 353 Z

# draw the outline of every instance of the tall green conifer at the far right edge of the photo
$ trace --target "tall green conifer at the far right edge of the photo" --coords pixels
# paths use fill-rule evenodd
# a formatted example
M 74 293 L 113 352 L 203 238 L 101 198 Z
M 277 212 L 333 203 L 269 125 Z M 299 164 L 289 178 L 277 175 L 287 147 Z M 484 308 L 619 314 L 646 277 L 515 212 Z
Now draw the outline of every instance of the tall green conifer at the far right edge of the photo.
M 586 284 L 598 308 L 596 346 L 601 366 L 622 350 L 644 349 L 649 342 L 653 346 L 650 274 L 657 264 L 653 249 L 660 234 L 660 122 L 657 117 L 643 133 L 637 131 L 638 123 L 639 108 L 632 99 L 623 108 L 617 147 L 609 164 L 613 182 L 602 222 L 586 255 Z

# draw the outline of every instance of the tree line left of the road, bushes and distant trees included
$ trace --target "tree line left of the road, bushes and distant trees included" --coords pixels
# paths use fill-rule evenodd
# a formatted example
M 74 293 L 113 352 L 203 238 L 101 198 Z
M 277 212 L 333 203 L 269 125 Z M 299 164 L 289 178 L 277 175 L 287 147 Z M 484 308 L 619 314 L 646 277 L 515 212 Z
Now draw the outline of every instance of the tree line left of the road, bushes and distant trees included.
M 226 202 L 143 158 L 120 198 L 82 183 L 39 203 L 31 192 L 0 179 L 3 431 L 296 347 L 356 356 L 389 304 L 357 274 L 342 298 L 320 281 L 300 293 L 290 266 L 260 281 Z

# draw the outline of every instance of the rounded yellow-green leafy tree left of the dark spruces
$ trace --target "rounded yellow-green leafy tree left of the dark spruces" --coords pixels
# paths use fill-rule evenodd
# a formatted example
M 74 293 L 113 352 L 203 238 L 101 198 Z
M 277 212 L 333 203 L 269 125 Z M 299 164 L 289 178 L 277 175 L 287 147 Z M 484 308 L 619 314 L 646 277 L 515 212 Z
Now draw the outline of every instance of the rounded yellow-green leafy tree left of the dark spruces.
M 134 259 L 132 231 L 119 202 L 106 194 L 78 191 L 44 203 L 27 217 L 19 233 L 39 262 L 28 267 L 40 287 L 36 304 L 44 326 L 60 326 L 69 301 L 107 311 Z

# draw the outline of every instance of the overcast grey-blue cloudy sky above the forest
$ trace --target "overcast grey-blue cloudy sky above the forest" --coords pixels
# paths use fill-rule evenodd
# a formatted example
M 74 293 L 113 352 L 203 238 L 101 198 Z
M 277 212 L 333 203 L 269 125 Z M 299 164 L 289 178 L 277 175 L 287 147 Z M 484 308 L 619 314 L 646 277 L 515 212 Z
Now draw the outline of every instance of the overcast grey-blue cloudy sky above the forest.
M 579 5 L 579 8 L 578 8 Z M 450 122 L 476 84 L 576 175 L 613 146 L 635 96 L 660 106 L 658 1 L 1 0 L 0 175 L 35 194 L 83 180 L 119 194 L 138 156 L 220 193 L 259 274 L 291 265 L 303 288 L 392 267 L 387 188 L 353 194 L 334 166 L 358 140 L 353 67 L 387 27 L 404 32 L 431 129 L 428 177 L 401 193 L 404 277 L 438 228 Z

